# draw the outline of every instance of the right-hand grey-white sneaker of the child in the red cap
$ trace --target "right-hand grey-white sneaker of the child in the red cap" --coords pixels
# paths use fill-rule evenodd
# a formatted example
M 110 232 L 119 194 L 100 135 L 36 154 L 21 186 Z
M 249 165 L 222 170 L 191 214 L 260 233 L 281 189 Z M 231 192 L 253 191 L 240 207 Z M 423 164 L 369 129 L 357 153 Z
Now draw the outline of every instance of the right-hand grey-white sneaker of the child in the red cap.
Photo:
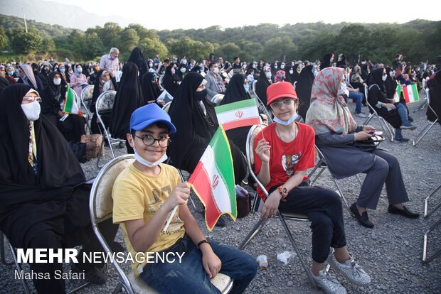
M 335 258 L 335 253 L 328 256 L 328 263 L 331 268 L 341 273 L 346 280 L 356 285 L 369 285 L 371 283 L 371 277 L 363 271 L 361 266 L 354 261 L 353 258 L 349 259 L 345 263 L 339 263 Z

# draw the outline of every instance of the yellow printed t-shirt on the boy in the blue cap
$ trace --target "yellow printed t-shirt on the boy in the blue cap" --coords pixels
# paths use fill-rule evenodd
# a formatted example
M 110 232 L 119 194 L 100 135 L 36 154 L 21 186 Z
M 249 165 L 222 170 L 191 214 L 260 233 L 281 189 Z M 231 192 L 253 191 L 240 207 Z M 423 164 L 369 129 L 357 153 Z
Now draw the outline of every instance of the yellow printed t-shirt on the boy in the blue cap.
M 169 193 L 176 185 L 181 183 L 178 170 L 171 165 L 160 164 L 161 172 L 159 175 L 146 175 L 142 171 L 129 165 L 119 175 L 113 185 L 113 222 L 121 224 L 124 241 L 127 249 L 134 257 L 137 253 L 130 244 L 129 236 L 124 222 L 133 219 L 144 219 L 148 223 L 155 212 L 164 204 Z M 169 249 L 176 241 L 185 234 L 184 222 L 179 219 L 179 208 L 176 210 L 173 219 L 166 232 L 159 234 L 158 239 L 147 250 L 148 252 L 157 252 Z M 169 216 L 166 218 L 169 219 Z M 164 223 L 165 226 L 165 223 Z M 139 266 L 146 265 L 147 262 L 132 263 L 135 276 L 139 276 Z

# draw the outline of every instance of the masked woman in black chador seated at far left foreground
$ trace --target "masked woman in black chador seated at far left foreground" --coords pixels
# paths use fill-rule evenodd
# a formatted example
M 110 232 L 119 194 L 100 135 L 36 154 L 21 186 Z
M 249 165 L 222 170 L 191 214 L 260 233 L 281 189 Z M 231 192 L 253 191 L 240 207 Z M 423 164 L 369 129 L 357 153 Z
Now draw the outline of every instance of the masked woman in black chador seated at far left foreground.
M 83 244 L 82 251 L 102 251 L 90 226 L 91 185 L 68 143 L 54 124 L 40 114 L 38 92 L 11 85 L 0 94 L 0 230 L 21 249 L 63 249 Z M 102 223 L 107 242 L 117 227 Z M 104 229 L 104 228 L 103 228 Z M 35 254 L 35 252 L 34 252 Z M 80 256 L 83 253 L 80 252 Z M 92 283 L 105 283 L 93 264 L 73 263 Z M 65 293 L 62 263 L 30 263 L 34 273 L 51 279 L 33 280 L 38 293 Z

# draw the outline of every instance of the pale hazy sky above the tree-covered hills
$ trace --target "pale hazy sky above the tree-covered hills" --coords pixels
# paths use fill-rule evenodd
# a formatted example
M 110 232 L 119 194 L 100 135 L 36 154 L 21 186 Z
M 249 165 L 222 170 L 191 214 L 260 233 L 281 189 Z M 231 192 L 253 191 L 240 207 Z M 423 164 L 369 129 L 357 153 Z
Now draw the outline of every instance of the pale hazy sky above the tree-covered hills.
M 259 23 L 405 23 L 416 18 L 441 20 L 441 1 L 425 0 L 51 0 L 78 5 L 101 16 L 123 16 L 146 28 L 254 26 Z M 409 4 L 407 4 L 409 2 Z M 164 5 L 161 5 L 164 4 Z

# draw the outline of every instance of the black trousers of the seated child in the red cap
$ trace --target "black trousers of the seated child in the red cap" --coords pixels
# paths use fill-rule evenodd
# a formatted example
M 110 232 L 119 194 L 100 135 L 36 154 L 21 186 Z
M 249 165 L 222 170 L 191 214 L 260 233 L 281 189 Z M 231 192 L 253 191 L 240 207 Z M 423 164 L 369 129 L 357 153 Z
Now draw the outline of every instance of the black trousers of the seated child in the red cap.
M 307 215 L 311 221 L 312 259 L 324 263 L 330 246 L 346 246 L 341 200 L 333 190 L 309 187 L 305 182 L 289 191 L 287 201 L 280 201 L 279 210 Z M 271 187 L 270 193 L 276 189 Z

